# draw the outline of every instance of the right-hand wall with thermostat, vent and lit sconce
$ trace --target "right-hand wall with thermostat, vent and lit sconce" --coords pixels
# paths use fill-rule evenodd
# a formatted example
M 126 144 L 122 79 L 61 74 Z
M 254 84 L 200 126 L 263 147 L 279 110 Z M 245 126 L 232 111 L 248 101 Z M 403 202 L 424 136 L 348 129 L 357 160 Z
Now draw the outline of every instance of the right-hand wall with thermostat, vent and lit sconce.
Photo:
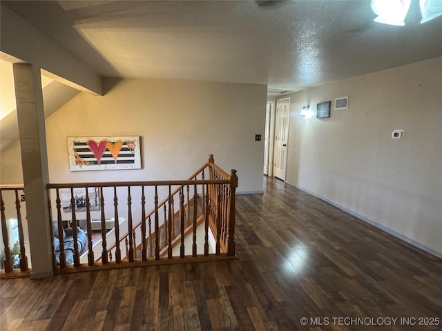
M 441 86 L 439 57 L 290 94 L 287 182 L 440 256 Z M 344 96 L 329 119 L 300 117 Z

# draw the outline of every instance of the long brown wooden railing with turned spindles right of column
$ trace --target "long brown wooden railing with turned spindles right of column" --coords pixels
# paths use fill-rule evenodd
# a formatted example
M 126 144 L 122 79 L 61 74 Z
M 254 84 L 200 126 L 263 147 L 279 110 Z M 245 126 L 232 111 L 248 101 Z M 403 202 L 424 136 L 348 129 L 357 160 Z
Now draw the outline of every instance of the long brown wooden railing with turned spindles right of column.
M 64 238 L 64 227 L 71 225 L 69 230 L 73 239 L 73 245 L 69 248 L 70 254 L 73 254 L 72 259 L 66 259 L 67 246 L 64 247 L 64 241 L 59 240 L 59 249 L 54 250 L 52 254 L 54 270 L 70 272 L 75 269 L 84 270 L 87 267 L 118 268 L 126 263 L 133 265 L 152 264 L 153 261 L 171 263 L 184 261 L 189 257 L 198 257 L 198 259 L 209 256 L 232 257 L 235 255 L 237 185 L 236 170 L 231 170 L 231 173 L 227 174 L 215 165 L 213 155 L 210 155 L 209 161 L 184 181 L 48 184 L 49 199 L 52 197 L 56 201 L 55 207 L 51 207 L 51 204 L 49 207 L 50 222 L 57 225 L 55 237 Z M 84 192 L 88 192 L 88 188 L 97 188 L 94 191 L 99 193 L 99 212 L 91 210 L 89 194 L 85 194 L 84 211 L 76 210 L 74 193 L 76 188 L 84 189 Z M 65 192 L 68 189 L 70 192 L 68 208 L 64 201 L 65 209 L 70 211 L 69 217 L 62 212 L 63 201 L 60 194 L 62 189 Z M 119 201 L 124 199 L 121 197 L 122 190 L 125 191 L 124 198 L 127 199 L 127 204 L 120 205 Z M 160 201 L 160 195 L 163 194 L 166 197 Z M 105 204 L 108 200 L 113 201 L 113 208 Z M 151 211 L 146 213 L 146 210 Z M 98 244 L 102 247 L 98 256 L 96 256 L 97 243 L 93 243 L 91 226 L 93 213 L 99 213 L 98 218 L 101 222 Z M 106 215 L 109 214 L 113 218 L 111 232 L 106 228 L 109 222 Z M 140 221 L 134 221 L 136 214 L 142 215 Z M 67 218 L 70 219 L 66 220 Z M 52 222 L 52 219 L 56 221 Z M 80 223 L 83 223 L 85 231 L 78 227 Z M 204 238 L 200 238 L 201 236 L 197 238 L 197 228 L 203 223 Z M 52 230 L 52 226 L 50 228 Z M 213 254 L 209 252 L 210 232 L 215 237 Z M 82 244 L 81 240 L 85 241 L 84 234 L 87 243 Z M 184 239 L 187 235 L 192 235 L 191 254 L 185 253 Z M 173 248 L 177 245 L 180 245 L 180 252 L 174 254 Z M 203 248 L 198 249 L 199 245 Z M 53 243 L 52 248 L 54 248 Z M 199 250 L 202 253 L 199 253 Z M 86 256 L 87 263 L 84 263 Z

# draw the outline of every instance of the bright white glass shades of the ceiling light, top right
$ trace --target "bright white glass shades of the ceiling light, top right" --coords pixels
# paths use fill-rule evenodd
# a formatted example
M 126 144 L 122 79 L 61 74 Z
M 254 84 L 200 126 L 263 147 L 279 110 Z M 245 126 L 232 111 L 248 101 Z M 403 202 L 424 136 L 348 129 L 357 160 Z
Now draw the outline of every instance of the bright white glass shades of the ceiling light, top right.
M 410 9 L 411 0 L 372 0 L 372 11 L 378 15 L 374 21 L 392 26 L 405 26 L 405 17 Z M 441 0 L 419 0 L 422 19 L 425 23 L 442 15 Z

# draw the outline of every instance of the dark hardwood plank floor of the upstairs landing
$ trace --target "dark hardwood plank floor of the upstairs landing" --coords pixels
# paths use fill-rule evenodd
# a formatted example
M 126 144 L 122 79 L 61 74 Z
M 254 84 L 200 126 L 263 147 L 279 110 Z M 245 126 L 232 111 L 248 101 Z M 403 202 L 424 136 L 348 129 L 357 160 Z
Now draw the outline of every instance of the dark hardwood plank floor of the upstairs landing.
M 440 259 L 282 181 L 237 197 L 236 243 L 228 261 L 1 280 L 0 330 L 442 330 Z

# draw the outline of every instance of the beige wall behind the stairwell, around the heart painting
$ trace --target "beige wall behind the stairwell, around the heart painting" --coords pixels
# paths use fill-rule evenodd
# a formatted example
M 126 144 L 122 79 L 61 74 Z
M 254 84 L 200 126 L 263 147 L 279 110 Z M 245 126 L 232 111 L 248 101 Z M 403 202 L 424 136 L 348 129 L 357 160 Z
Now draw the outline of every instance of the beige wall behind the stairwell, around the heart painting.
M 51 183 L 187 179 L 215 156 L 238 170 L 238 191 L 262 192 L 266 86 L 125 79 L 103 97 L 81 93 L 46 119 Z M 141 170 L 70 172 L 66 137 L 142 139 Z

